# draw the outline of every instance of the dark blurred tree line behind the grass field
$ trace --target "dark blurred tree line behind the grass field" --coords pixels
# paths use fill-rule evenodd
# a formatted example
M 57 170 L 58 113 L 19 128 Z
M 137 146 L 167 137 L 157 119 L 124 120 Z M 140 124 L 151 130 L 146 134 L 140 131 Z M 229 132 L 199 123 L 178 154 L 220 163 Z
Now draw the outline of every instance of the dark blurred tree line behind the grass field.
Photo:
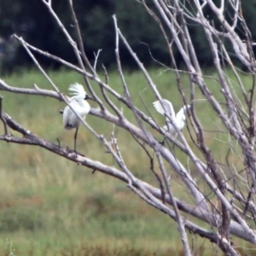
M 191 1 L 187 0 L 185 3 L 188 9 L 194 9 Z M 74 36 L 75 30 L 67 0 L 53 0 L 52 5 L 56 14 L 59 15 L 63 24 L 67 27 L 68 32 Z M 252 33 L 251 37 L 254 39 L 256 38 L 254 19 L 256 15 L 256 0 L 242 1 L 241 5 L 243 5 L 242 15 L 247 21 L 247 26 Z M 164 44 L 165 38 L 160 34 L 157 22 L 148 15 L 141 3 L 131 0 L 76 0 L 73 3 L 73 7 L 79 20 L 85 52 L 90 61 L 94 60 L 94 53 L 98 49 L 102 49 L 98 63 L 103 63 L 107 67 L 114 65 L 112 15 L 116 14 L 119 20 L 119 27 L 124 29 L 125 37 L 129 40 L 132 49 L 137 52 L 144 65 L 154 65 L 155 61 L 153 58 L 167 66 L 171 65 L 168 49 L 167 47 L 163 47 L 163 45 L 166 45 Z M 157 13 L 151 2 L 148 2 L 148 7 Z M 221 26 L 207 6 L 204 12 L 208 15 L 209 20 L 216 23 L 216 26 Z M 230 12 L 232 12 L 232 9 L 227 8 L 227 20 L 229 19 Z M 20 44 L 15 38 L 11 37 L 14 33 L 22 36 L 29 44 L 39 49 L 48 51 L 53 55 L 58 55 L 64 60 L 76 63 L 76 59 L 72 54 L 72 48 L 64 40 L 63 34 L 58 30 L 54 20 L 49 18 L 49 12 L 41 0 L 13 0 L 11 3 L 6 0 L 0 0 L 0 15 L 0 67 L 3 72 L 13 71 L 16 67 L 24 67 L 32 64 L 24 49 L 20 47 Z M 203 36 L 202 28 L 197 26 L 193 20 L 188 22 L 201 65 L 203 67 L 211 66 L 212 56 L 207 39 Z M 241 25 L 237 26 L 236 30 L 238 33 L 240 33 L 239 27 Z M 172 36 L 167 36 L 172 44 Z M 240 36 L 241 38 L 243 37 L 242 34 Z M 135 63 L 124 45 L 120 45 L 120 49 L 122 53 L 120 57 L 123 65 L 131 68 L 134 67 Z M 232 51 L 231 48 L 230 51 Z M 180 58 L 179 52 L 175 48 L 173 55 L 177 61 L 177 65 L 183 65 L 182 58 Z M 38 58 L 44 67 L 59 67 L 59 64 L 47 58 L 42 56 L 38 56 Z

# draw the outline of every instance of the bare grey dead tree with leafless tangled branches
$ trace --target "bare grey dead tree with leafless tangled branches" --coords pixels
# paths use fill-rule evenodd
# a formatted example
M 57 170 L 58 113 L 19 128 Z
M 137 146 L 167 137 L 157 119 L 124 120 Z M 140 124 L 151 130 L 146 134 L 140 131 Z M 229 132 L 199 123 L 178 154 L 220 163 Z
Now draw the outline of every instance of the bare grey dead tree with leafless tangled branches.
M 73 154 L 67 148 L 61 148 L 59 145 L 50 143 L 43 137 L 38 137 L 32 131 L 28 131 L 22 124 L 18 124 L 15 119 L 12 119 L 8 113 L 8 109 L 0 108 L 0 119 L 3 122 L 4 134 L 0 136 L 2 141 L 9 143 L 21 143 L 29 145 L 37 145 L 52 152 L 52 154 L 60 155 L 67 160 L 79 163 L 82 166 L 87 166 L 92 170 L 108 174 L 112 177 L 127 183 L 129 189 L 139 196 L 141 200 L 146 201 L 148 205 L 155 207 L 169 215 L 177 222 L 178 232 L 183 241 L 183 248 L 186 255 L 191 255 L 187 231 L 205 237 L 209 241 L 215 243 L 226 255 L 239 255 L 236 251 L 236 245 L 231 242 L 231 236 L 236 236 L 241 240 L 249 241 L 256 245 L 256 233 L 252 229 L 251 224 L 255 224 L 255 194 L 256 194 L 256 158 L 254 154 L 255 143 L 255 106 L 254 106 L 254 86 L 249 90 L 245 89 L 242 84 L 240 73 L 237 67 L 233 64 L 231 55 L 236 55 L 242 65 L 247 67 L 248 73 L 254 78 L 256 72 L 256 62 L 253 55 L 253 41 L 247 24 L 242 16 L 240 0 L 221 0 L 220 5 L 216 6 L 212 0 L 152 0 L 155 9 L 149 9 L 145 0 L 135 1 L 134 4 L 142 4 L 145 11 L 152 16 L 159 25 L 160 32 L 166 39 L 166 45 L 169 49 L 169 54 L 172 59 L 172 72 L 177 76 L 177 86 L 180 91 L 183 104 L 190 104 L 189 112 L 189 127 L 190 140 L 198 148 L 195 152 L 188 143 L 188 139 L 183 136 L 183 133 L 177 129 L 173 116 L 166 116 L 170 119 L 170 123 L 177 131 L 177 138 L 173 137 L 168 130 L 160 128 L 160 125 L 154 122 L 152 116 L 143 112 L 138 108 L 131 99 L 129 84 L 125 82 L 125 75 L 122 69 L 122 63 L 119 58 L 119 42 L 125 44 L 126 49 L 130 52 L 134 61 L 137 62 L 137 67 L 144 74 L 148 82 L 149 90 L 154 92 L 156 100 L 161 101 L 157 84 L 154 84 L 150 78 L 147 69 L 139 60 L 136 53 L 131 49 L 129 42 L 125 39 L 123 33 L 119 30 L 118 20 L 113 15 L 113 26 L 115 28 L 115 54 L 118 66 L 120 82 L 123 86 L 123 93 L 119 94 L 113 90 L 108 84 L 108 72 L 105 69 L 106 79 L 102 80 L 96 71 L 96 61 L 91 64 L 85 52 L 84 45 L 79 31 L 79 22 L 73 11 L 72 0 L 69 1 L 72 10 L 73 25 L 77 32 L 77 38 L 72 38 L 67 32 L 65 26 L 52 9 L 50 0 L 42 0 L 45 7 L 49 9 L 49 14 L 55 19 L 61 31 L 64 33 L 67 41 L 73 47 L 73 53 L 77 57 L 78 65 L 73 65 L 67 61 L 61 60 L 58 56 L 50 55 L 41 49 L 27 44 L 19 35 L 15 38 L 20 41 L 20 44 L 26 49 L 27 54 L 32 57 L 38 69 L 44 73 L 44 77 L 48 79 L 52 85 L 52 90 L 41 89 L 35 85 L 34 88 L 18 88 L 15 84 L 6 84 L 0 80 L 0 90 L 7 90 L 11 93 L 23 93 L 27 96 L 40 95 L 54 97 L 57 100 L 65 101 L 68 104 L 66 96 L 61 94 L 57 86 L 49 79 L 44 71 L 34 52 L 49 57 L 54 61 L 60 62 L 63 66 L 73 69 L 84 77 L 84 84 L 90 95 L 93 96 L 99 104 L 99 108 L 91 109 L 90 114 L 102 119 L 102 122 L 110 122 L 125 129 L 134 138 L 137 147 L 142 148 L 148 154 L 148 165 L 150 172 L 154 172 L 155 178 L 159 183 L 158 187 L 152 184 L 145 183 L 143 180 L 135 176 L 130 166 L 125 163 L 123 152 L 119 148 L 118 140 L 114 132 L 111 134 L 110 141 L 96 132 L 96 129 L 90 127 L 84 120 L 83 124 L 89 129 L 96 140 L 99 140 L 112 156 L 118 167 L 106 166 L 97 160 L 92 160 L 83 154 Z M 215 26 L 212 20 L 208 20 L 204 14 L 206 8 L 212 10 L 212 14 L 221 26 Z M 226 20 L 224 15 L 226 9 L 230 9 L 231 21 Z M 198 26 L 201 26 L 204 36 L 207 38 L 209 49 L 211 50 L 213 65 L 217 73 L 215 78 L 221 87 L 221 94 L 224 97 L 222 104 L 212 94 L 212 89 L 207 86 L 206 77 L 204 76 L 195 48 L 193 40 L 189 34 L 189 21 L 193 21 Z M 243 30 L 244 38 L 240 38 L 236 33 L 236 27 L 240 26 Z M 170 36 L 171 35 L 171 36 Z M 230 42 L 233 47 L 233 52 L 230 53 L 226 49 L 224 39 Z M 244 41 L 243 41 L 243 40 Z M 178 49 L 183 58 L 184 69 L 178 70 L 175 58 L 172 55 L 172 48 Z M 230 81 L 229 76 L 225 73 L 224 67 L 230 68 L 236 81 Z M 186 73 L 189 78 L 189 92 L 186 95 L 183 92 L 182 85 L 179 82 L 180 73 Z M 91 82 L 95 82 L 100 88 L 101 95 L 96 94 L 95 88 Z M 237 90 L 234 89 L 234 84 L 239 88 L 242 98 L 236 95 Z M 218 116 L 220 123 L 224 127 L 224 133 L 228 138 L 229 145 L 226 152 L 225 161 L 219 162 L 212 154 L 212 150 L 207 144 L 204 125 L 195 110 L 195 89 L 200 90 L 203 98 L 211 105 L 211 108 Z M 116 98 L 119 102 L 125 105 L 135 117 L 135 122 L 131 123 L 125 118 L 125 114 L 111 101 L 109 95 Z M 104 101 L 101 100 L 104 99 Z M 189 99 L 189 102 L 188 102 Z M 2 99 L 1 99 L 2 102 Z M 2 105 L 0 105 L 2 107 Z M 148 131 L 148 125 L 155 131 L 165 137 L 165 144 L 159 143 L 153 134 Z M 15 137 L 11 131 L 18 131 L 22 137 Z M 214 132 L 213 132 L 214 134 Z M 188 160 L 195 166 L 195 172 L 189 172 L 188 166 L 182 163 L 168 145 L 175 145 Z M 154 155 L 148 152 L 147 148 L 154 150 Z M 200 153 L 198 153 L 200 152 Z M 243 168 L 238 170 L 236 165 L 230 160 L 230 154 L 235 154 L 243 161 Z M 159 166 L 160 172 L 155 172 L 156 166 Z M 183 201 L 180 195 L 172 189 L 169 173 L 166 168 L 172 168 L 183 183 L 184 190 L 193 198 L 191 201 Z M 200 176 L 204 181 L 204 185 L 196 181 L 194 175 Z M 211 191 L 211 196 L 207 191 Z M 214 203 L 213 203 L 214 201 Z M 215 203 L 218 202 L 218 203 Z M 199 224 L 195 224 L 185 216 L 193 216 L 201 220 L 202 223 L 209 224 L 209 229 L 203 228 Z M 212 227 L 212 228 L 211 228 Z

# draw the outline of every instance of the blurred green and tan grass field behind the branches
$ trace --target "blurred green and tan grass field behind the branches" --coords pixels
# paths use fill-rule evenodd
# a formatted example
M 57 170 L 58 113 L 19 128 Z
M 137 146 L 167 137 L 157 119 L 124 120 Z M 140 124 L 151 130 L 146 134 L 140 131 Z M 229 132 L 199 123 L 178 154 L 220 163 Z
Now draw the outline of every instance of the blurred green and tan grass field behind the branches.
M 159 70 L 150 73 L 160 93 L 172 100 L 175 110 L 181 108 L 183 104 L 173 73 Z M 82 77 L 73 72 L 50 72 L 49 77 L 66 93 L 68 84 L 75 81 L 84 84 Z M 154 95 L 143 75 L 125 73 L 125 78 L 137 106 L 147 111 L 144 102 L 159 124 L 164 125 L 165 118 L 154 112 Z M 51 89 L 44 77 L 34 70 L 24 70 L 3 79 L 17 87 L 38 84 L 41 88 Z M 245 84 L 251 83 L 250 77 L 242 76 L 242 79 Z M 220 102 L 223 101 L 218 83 L 214 79 L 207 81 L 211 83 L 212 93 Z M 122 93 L 117 73 L 109 74 L 109 84 Z M 185 76 L 182 84 L 185 95 L 189 96 Z M 4 97 L 3 110 L 21 125 L 51 142 L 56 143 L 56 138 L 59 138 L 61 145 L 73 147 L 73 131 L 63 129 L 59 114 L 65 106 L 63 102 L 42 96 L 13 95 L 2 91 L 0 94 Z M 196 94 L 197 98 L 202 98 L 199 91 Z M 96 107 L 96 104 L 92 103 L 92 106 Z M 209 130 L 220 129 L 219 120 L 207 102 L 198 102 L 196 108 L 201 122 Z M 126 109 L 124 113 L 128 119 L 133 119 Z M 105 137 L 113 131 L 113 125 L 102 119 L 88 116 L 86 120 Z M 2 125 L 0 132 L 3 133 Z M 115 134 L 132 172 L 153 182 L 146 155 L 129 139 L 126 131 L 116 127 Z M 184 134 L 188 136 L 187 131 Z M 222 134 L 218 136 L 222 137 Z M 125 142 L 121 140 L 123 137 L 127 138 Z M 213 140 L 210 133 L 207 140 L 213 154 L 221 161 L 223 145 Z M 106 149 L 84 127 L 79 130 L 78 149 L 94 160 L 113 164 L 113 159 L 105 153 Z M 140 201 L 125 183 L 99 172 L 92 174 L 91 170 L 42 148 L 0 142 L 0 152 L 0 255 L 183 255 L 177 224 Z M 181 153 L 177 154 L 182 157 Z M 172 189 L 183 192 L 178 183 L 173 186 Z M 189 195 L 183 196 L 187 198 Z M 215 247 L 199 237 L 189 235 L 189 241 L 194 244 L 195 255 L 217 253 Z M 247 244 L 241 246 L 250 247 Z

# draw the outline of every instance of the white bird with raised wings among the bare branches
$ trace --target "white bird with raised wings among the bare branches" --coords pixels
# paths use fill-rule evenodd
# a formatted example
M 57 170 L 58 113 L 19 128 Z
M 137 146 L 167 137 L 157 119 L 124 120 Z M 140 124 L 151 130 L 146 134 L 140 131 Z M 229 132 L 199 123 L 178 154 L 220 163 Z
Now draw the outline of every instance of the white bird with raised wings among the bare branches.
M 177 132 L 172 125 L 171 118 L 173 123 L 177 126 L 177 129 L 181 131 L 185 125 L 186 116 L 185 113 L 187 109 L 190 108 L 190 105 L 183 106 L 180 111 L 175 115 L 172 103 L 167 100 L 161 100 L 153 102 L 154 108 L 157 112 L 166 116 L 166 125 L 163 127 L 165 131 L 169 131 L 173 136 L 177 135 Z

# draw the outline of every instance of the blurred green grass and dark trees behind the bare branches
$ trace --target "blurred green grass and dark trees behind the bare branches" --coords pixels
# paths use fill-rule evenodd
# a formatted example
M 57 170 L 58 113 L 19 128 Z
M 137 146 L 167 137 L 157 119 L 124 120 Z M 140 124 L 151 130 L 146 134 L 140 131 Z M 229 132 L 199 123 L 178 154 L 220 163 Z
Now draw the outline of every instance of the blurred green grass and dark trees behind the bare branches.
M 170 60 L 166 58 L 167 49 L 163 47 L 164 39 L 160 35 L 159 28 L 137 1 L 84 2 L 77 0 L 74 2 L 86 54 L 92 61 L 95 58 L 94 53 L 102 49 L 98 67 L 100 68 L 104 63 L 108 70 L 112 70 L 109 73 L 109 82 L 115 90 L 121 92 L 123 89 L 113 64 L 114 32 L 111 15 L 114 13 L 132 49 L 137 52 L 146 66 L 151 66 L 150 73 L 160 94 L 172 101 L 176 111 L 182 107 L 180 94 L 176 86 L 172 86 L 176 84 L 173 73 L 154 67 L 155 62 L 148 49 L 154 57 L 157 56 L 158 61 L 170 65 Z M 190 4 L 189 1 L 187 3 Z M 248 28 L 252 32 L 252 38 L 255 38 L 256 30 L 253 20 L 256 13 L 256 0 L 243 1 L 241 4 L 244 5 L 242 8 Z M 53 1 L 53 5 L 57 15 L 73 34 L 73 21 L 70 19 L 70 10 L 67 5 L 60 1 Z M 192 9 L 193 6 L 189 8 Z M 208 12 L 207 15 L 211 18 L 211 12 L 207 9 L 205 12 Z M 16 33 L 39 49 L 75 62 L 70 45 L 63 40 L 54 20 L 49 18 L 47 9 L 38 0 L 14 0 L 11 5 L 8 1 L 0 0 L 0 13 L 2 15 L 0 71 L 5 73 L 2 79 L 13 86 L 27 87 L 38 84 L 41 88 L 49 89 L 50 86 L 43 76 L 30 69 L 32 63 L 25 50 L 20 47 L 15 38 L 11 37 Z M 219 26 L 218 22 L 216 26 Z M 201 37 L 201 29 L 191 22 L 189 30 L 201 67 L 211 67 L 212 55 L 206 39 Z M 237 32 L 243 38 L 239 30 L 240 25 L 237 26 Z M 120 45 L 119 51 L 122 63 L 125 67 L 129 67 L 125 72 L 125 78 L 127 84 L 130 84 L 129 88 L 132 88 L 133 102 L 146 113 L 150 113 L 159 125 L 164 125 L 165 117 L 155 112 L 152 106 L 155 97 L 151 90 L 147 90 L 148 86 L 143 75 L 133 70 L 134 62 L 123 45 Z M 175 47 L 173 54 L 178 66 L 182 66 L 183 63 Z M 48 70 L 60 68 L 59 64 L 49 59 L 36 56 L 44 67 L 48 67 Z M 6 73 L 14 71 L 12 75 Z M 212 94 L 218 102 L 222 102 L 224 99 L 219 93 L 221 87 L 212 78 L 215 77 L 215 73 L 208 69 L 205 74 Z M 229 75 L 229 71 L 227 74 Z M 50 71 L 49 76 L 61 91 L 66 93 L 68 84 L 74 81 L 84 84 L 77 73 L 67 72 L 67 70 Z M 231 75 L 230 79 L 232 79 Z M 249 75 L 241 74 L 241 80 L 250 88 L 252 78 Z M 189 90 L 186 87 L 187 82 L 188 78 L 183 74 L 182 84 L 185 95 L 186 90 Z M 201 97 L 198 91 L 196 94 L 196 98 Z M 63 102 L 40 96 L 10 96 L 9 93 L 2 93 L 2 91 L 1 95 L 4 97 L 3 110 L 20 124 L 51 142 L 57 143 L 58 138 L 61 145 L 73 148 L 73 131 L 63 129 L 61 114 L 59 114 L 59 109 L 64 108 Z M 189 102 L 189 99 L 187 101 Z M 120 102 L 116 103 L 120 108 L 122 107 Z M 96 108 L 95 103 L 91 104 Z M 223 162 L 224 152 L 227 152 L 225 148 L 227 136 L 220 119 L 207 102 L 196 102 L 195 108 L 201 124 L 206 127 L 207 146 L 211 148 L 214 157 Z M 131 112 L 124 111 L 127 119 L 133 119 Z M 110 137 L 114 130 L 119 139 L 119 147 L 124 149 L 123 152 L 127 152 L 124 156 L 127 165 L 137 177 L 155 183 L 155 177 L 147 166 L 148 158 L 137 149 L 137 145 L 130 139 L 131 135 L 93 116 L 88 116 L 87 121 L 105 137 Z M 148 126 L 147 128 L 152 129 Z M 212 130 L 217 131 L 214 136 Z M 152 132 L 155 135 L 158 134 Z M 2 125 L 0 125 L 0 133 L 3 133 Z M 189 141 L 187 129 L 184 129 L 184 135 Z M 162 137 L 156 136 L 162 140 Z M 125 141 L 122 140 L 124 138 L 126 138 Z M 198 150 L 193 143 L 190 146 L 195 152 Z M 104 151 L 101 143 L 96 141 L 84 127 L 79 130 L 78 148 L 79 152 L 93 160 L 99 160 L 108 165 L 113 164 L 110 154 Z M 195 172 L 189 160 L 177 148 L 174 150 L 178 159 L 189 166 L 189 171 Z M 177 232 L 177 224 L 171 218 L 163 216 L 137 199 L 126 188 L 125 183 L 106 177 L 99 172 L 92 174 L 91 170 L 65 159 L 56 158 L 42 148 L 0 143 L 0 152 L 1 255 L 182 255 L 183 246 Z M 150 153 L 153 154 L 153 151 L 151 150 Z M 230 158 L 232 157 L 231 155 Z M 147 164 L 144 165 L 144 163 Z M 242 160 L 236 159 L 236 156 L 232 163 L 237 169 L 244 166 Z M 177 175 L 171 169 L 168 173 L 171 175 L 172 189 L 182 195 L 180 199 L 189 201 L 190 195 L 184 192 Z M 196 174 L 193 177 L 201 179 L 200 176 L 196 177 Z M 213 203 L 214 200 L 215 198 L 212 198 Z M 198 236 L 189 235 L 189 241 L 195 255 L 220 254 L 216 247 Z M 241 255 L 255 253 L 253 247 L 247 243 L 239 244 L 237 249 Z

